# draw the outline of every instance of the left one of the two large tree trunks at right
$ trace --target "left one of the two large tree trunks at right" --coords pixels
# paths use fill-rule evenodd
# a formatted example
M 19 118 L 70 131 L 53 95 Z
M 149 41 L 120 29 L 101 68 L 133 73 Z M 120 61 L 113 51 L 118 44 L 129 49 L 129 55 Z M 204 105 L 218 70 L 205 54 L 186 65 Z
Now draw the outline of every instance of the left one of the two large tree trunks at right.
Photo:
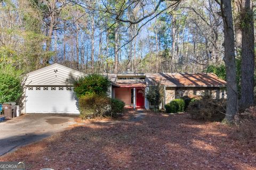
M 237 113 L 237 84 L 236 84 L 236 61 L 235 61 L 235 38 L 233 30 L 233 16 L 231 0 L 221 0 L 221 13 L 225 36 L 225 57 L 227 76 L 227 109 L 225 120 L 232 123 Z

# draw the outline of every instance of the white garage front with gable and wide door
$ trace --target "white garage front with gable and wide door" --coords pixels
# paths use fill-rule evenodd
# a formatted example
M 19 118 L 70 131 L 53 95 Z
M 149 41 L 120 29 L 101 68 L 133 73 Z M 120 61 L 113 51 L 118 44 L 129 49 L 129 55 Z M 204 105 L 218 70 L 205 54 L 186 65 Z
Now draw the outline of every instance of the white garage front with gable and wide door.
M 73 82 L 84 75 L 60 64 L 28 73 L 24 112 L 79 114 Z

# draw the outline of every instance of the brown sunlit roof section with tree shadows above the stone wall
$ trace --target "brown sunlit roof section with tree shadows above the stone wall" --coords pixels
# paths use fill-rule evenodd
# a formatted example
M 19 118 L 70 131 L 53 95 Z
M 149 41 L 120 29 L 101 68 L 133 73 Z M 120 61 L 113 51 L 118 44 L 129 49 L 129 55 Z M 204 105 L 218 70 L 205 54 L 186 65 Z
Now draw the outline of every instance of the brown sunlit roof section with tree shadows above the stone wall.
M 148 85 L 161 82 L 167 87 L 225 87 L 226 81 L 213 73 L 149 73 Z

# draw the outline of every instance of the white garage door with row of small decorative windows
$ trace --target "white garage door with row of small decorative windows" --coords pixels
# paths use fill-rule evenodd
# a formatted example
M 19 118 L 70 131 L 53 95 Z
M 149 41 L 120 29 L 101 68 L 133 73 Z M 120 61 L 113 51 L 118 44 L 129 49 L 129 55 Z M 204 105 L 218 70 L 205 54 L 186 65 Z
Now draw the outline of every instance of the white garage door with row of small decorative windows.
M 27 87 L 26 113 L 79 114 L 72 87 Z

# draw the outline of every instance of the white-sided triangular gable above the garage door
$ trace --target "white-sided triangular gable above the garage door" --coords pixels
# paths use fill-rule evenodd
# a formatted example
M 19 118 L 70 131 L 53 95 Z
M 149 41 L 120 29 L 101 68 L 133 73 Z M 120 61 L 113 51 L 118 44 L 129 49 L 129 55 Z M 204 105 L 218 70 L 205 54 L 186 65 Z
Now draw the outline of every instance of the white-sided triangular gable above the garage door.
M 26 86 L 72 86 L 76 78 L 86 75 L 61 64 L 52 64 L 27 74 Z

